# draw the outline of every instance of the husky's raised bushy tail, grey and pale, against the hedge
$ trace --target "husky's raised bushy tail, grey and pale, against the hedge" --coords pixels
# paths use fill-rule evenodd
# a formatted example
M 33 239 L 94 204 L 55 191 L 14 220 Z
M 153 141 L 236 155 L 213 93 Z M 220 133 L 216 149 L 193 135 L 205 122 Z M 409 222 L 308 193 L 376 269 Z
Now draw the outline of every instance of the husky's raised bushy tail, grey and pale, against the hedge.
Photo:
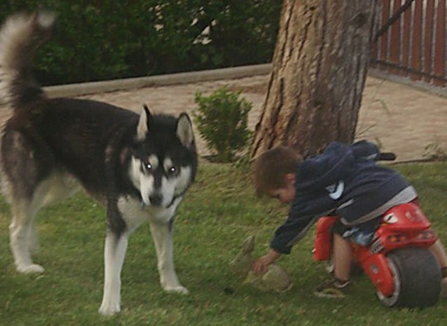
M 50 36 L 55 14 L 39 12 L 8 17 L 0 29 L 0 104 L 17 108 L 43 96 L 32 76 L 37 48 Z

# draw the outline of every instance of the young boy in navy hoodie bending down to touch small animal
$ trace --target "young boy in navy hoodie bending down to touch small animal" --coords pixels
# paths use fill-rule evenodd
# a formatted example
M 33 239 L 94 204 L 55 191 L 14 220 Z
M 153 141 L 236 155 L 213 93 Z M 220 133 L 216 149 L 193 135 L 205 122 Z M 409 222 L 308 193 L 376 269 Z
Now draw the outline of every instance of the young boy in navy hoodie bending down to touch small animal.
M 336 213 L 341 219 L 333 227 L 334 278 L 319 285 L 315 295 L 344 297 L 352 264 L 349 241 L 362 239 L 360 244 L 368 245 L 385 211 L 418 196 L 399 173 L 376 164 L 379 154 L 367 141 L 351 146 L 334 142 L 307 160 L 284 146 L 263 153 L 255 162 L 256 193 L 291 203 L 291 208 L 253 271 L 263 274 L 280 255 L 290 253 L 319 217 Z M 439 240 L 430 249 L 441 267 L 445 294 L 447 255 Z

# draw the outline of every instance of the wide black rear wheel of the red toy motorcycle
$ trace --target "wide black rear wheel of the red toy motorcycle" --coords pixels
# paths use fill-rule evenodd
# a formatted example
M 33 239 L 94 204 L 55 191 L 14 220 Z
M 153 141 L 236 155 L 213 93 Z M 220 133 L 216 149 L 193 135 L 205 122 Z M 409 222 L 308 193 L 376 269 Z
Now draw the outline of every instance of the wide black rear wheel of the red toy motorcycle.
M 394 278 L 394 292 L 377 296 L 385 306 L 408 308 L 433 306 L 441 292 L 441 269 L 427 248 L 401 248 L 387 255 Z

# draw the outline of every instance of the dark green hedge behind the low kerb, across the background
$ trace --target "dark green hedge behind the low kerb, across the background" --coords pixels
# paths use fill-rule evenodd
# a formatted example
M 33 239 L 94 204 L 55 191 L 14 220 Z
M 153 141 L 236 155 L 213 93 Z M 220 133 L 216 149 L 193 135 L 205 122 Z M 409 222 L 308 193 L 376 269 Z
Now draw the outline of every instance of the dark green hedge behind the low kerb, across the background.
M 45 85 L 270 62 L 282 1 L 2 0 L 54 10 L 58 24 L 36 58 Z

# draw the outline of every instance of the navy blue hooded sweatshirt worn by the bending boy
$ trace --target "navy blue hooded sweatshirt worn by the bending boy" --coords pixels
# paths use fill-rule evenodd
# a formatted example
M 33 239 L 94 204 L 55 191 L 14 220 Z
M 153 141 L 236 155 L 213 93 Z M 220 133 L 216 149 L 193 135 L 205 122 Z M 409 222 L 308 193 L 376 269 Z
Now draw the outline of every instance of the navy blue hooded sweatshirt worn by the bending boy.
M 376 164 L 377 146 L 333 142 L 304 160 L 296 173 L 296 194 L 287 220 L 277 228 L 270 247 L 288 254 L 321 216 L 335 214 L 345 225 L 380 217 L 397 204 L 417 197 L 399 173 Z

